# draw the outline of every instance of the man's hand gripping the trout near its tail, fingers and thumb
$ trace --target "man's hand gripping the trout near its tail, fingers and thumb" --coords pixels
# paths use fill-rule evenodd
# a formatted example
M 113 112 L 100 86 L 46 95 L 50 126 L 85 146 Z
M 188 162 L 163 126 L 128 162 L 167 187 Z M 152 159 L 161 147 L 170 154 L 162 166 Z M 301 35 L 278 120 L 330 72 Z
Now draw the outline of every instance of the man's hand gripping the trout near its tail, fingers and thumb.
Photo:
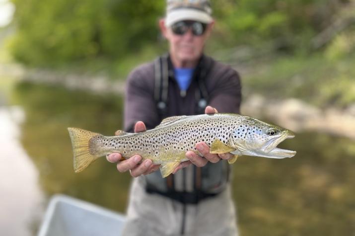
M 135 125 L 135 133 L 144 132 L 144 131 L 146 131 L 144 123 L 142 121 L 137 122 Z M 119 153 L 112 153 L 108 155 L 106 158 L 110 162 L 113 163 L 118 162 L 117 163 L 118 171 L 126 172 L 129 170 L 132 177 L 138 177 L 142 174 L 150 174 L 155 170 L 157 170 L 160 166 L 160 165 L 154 165 L 151 159 L 146 159 L 142 163 L 140 163 L 142 157 L 139 155 L 135 155 L 131 158 L 124 159 L 122 161 L 120 161 L 122 159 L 122 155 Z

